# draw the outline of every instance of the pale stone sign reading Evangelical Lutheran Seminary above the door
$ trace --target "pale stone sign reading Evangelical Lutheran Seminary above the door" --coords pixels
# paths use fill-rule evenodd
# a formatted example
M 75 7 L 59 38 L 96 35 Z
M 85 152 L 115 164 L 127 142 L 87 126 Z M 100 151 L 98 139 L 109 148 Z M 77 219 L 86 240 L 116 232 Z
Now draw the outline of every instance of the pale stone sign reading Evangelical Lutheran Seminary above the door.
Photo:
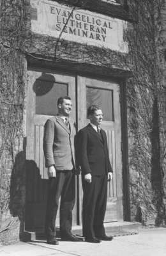
M 31 29 L 80 44 L 127 52 L 123 31 L 126 22 L 48 0 L 31 0 Z M 62 32 L 63 31 L 63 32 Z M 62 32 L 62 33 L 61 33 Z

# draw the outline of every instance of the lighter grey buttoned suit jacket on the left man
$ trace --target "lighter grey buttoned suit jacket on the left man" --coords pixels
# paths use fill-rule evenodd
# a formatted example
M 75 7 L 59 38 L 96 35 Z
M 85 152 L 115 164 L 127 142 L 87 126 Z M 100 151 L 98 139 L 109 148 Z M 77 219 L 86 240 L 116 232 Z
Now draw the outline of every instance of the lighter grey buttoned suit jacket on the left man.
M 52 164 L 56 170 L 72 170 L 75 168 L 74 140 L 75 123 L 69 119 L 70 129 L 60 116 L 54 116 L 45 123 L 43 150 L 45 166 Z

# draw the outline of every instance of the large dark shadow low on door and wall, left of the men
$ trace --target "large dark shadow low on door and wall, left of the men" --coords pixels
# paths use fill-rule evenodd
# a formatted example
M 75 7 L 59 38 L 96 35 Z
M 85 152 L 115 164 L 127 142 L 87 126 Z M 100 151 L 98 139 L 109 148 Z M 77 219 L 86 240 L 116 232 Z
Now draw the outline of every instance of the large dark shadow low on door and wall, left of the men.
M 29 232 L 45 232 L 47 186 L 48 180 L 41 179 L 37 164 L 19 152 L 11 173 L 10 213 L 15 218 L 9 223 L 10 241 L 16 240 L 18 233 L 21 241 L 29 241 Z

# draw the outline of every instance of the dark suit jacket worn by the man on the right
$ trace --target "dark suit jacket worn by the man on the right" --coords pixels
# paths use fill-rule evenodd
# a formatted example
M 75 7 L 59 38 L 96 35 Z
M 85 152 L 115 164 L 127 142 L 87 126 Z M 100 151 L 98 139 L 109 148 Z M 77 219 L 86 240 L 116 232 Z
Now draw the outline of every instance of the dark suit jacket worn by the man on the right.
M 101 136 L 89 124 L 77 134 L 77 161 L 82 174 L 103 175 L 112 172 L 105 131 Z

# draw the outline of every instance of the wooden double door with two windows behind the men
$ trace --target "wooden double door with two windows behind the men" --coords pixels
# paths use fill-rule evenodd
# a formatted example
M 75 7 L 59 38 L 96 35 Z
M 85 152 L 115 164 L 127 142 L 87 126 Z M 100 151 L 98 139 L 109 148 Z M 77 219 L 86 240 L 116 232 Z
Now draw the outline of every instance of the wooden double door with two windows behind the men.
M 77 129 L 87 123 L 86 109 L 91 104 L 101 106 L 104 113 L 102 128 L 106 131 L 109 157 L 114 171 L 108 183 L 105 222 L 123 220 L 121 114 L 119 84 L 82 76 L 56 74 L 49 70 L 27 71 L 26 104 L 26 214 L 25 227 L 31 232 L 43 232 L 47 204 L 47 168 L 43 156 L 43 126 L 57 113 L 57 99 L 69 95 L 72 118 Z M 77 198 L 73 210 L 73 225 L 82 222 L 82 185 L 75 180 Z M 57 216 L 57 226 L 59 225 Z

